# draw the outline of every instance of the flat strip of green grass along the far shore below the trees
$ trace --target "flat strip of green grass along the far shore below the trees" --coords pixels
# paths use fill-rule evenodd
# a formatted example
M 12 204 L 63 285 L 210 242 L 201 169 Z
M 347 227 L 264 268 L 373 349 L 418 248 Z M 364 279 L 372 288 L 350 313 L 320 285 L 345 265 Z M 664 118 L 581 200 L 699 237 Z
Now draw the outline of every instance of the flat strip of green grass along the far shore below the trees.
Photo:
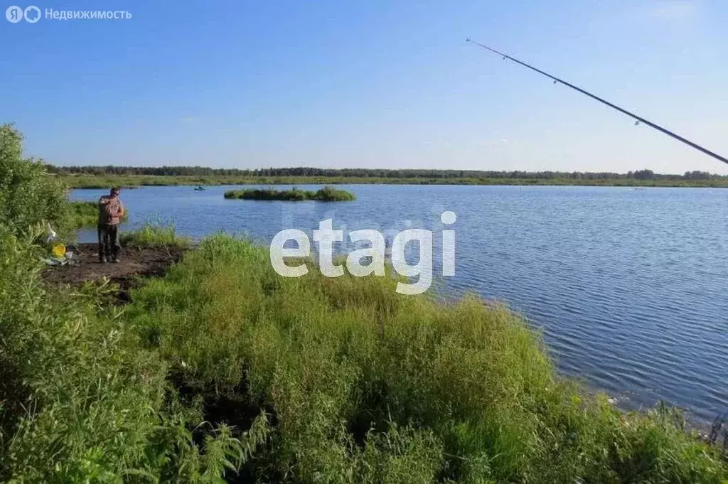
M 435 178 L 435 177 L 354 177 L 354 176 L 240 176 L 240 175 L 50 175 L 75 189 L 108 189 L 111 186 L 136 188 L 139 186 L 178 185 L 337 185 L 337 184 L 391 184 L 391 185 L 545 185 L 545 186 L 662 186 L 662 187 L 714 187 L 727 188 L 728 179 L 713 180 L 638 180 L 635 178 Z

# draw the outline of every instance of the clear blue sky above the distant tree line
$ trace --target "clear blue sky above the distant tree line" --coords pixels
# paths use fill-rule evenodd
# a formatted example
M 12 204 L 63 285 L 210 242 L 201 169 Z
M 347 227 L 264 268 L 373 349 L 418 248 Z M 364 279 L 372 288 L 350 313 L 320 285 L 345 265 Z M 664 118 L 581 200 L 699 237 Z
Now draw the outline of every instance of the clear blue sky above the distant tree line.
M 726 156 L 727 1 L 106 1 L 103 9 L 132 17 L 0 23 L 0 122 L 15 122 L 31 156 L 728 174 L 728 165 L 464 41 L 491 44 Z

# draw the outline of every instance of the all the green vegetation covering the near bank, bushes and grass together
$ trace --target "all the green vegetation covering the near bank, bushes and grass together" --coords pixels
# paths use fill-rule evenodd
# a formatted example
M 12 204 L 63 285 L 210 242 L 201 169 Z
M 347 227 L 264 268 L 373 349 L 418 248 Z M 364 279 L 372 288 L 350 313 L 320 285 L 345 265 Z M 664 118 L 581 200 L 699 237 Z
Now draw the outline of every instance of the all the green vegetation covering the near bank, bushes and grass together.
M 124 306 L 106 282 L 47 285 L 34 242 L 65 190 L 10 127 L 0 150 L 0 482 L 728 480 L 679 410 L 590 396 L 523 318 L 475 297 L 280 277 L 265 247 L 225 235 Z M 175 243 L 143 230 L 128 241 Z

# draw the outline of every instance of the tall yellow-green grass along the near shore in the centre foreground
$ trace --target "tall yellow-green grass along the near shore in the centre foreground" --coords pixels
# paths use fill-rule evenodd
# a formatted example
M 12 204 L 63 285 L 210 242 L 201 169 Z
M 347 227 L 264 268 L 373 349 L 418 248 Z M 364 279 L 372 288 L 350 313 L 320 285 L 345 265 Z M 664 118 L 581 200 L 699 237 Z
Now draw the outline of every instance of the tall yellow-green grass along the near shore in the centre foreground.
M 517 314 L 394 284 L 285 279 L 266 250 L 218 236 L 135 290 L 128 317 L 192 395 L 272 414 L 244 469 L 261 482 L 728 479 L 673 410 L 620 413 L 557 378 Z

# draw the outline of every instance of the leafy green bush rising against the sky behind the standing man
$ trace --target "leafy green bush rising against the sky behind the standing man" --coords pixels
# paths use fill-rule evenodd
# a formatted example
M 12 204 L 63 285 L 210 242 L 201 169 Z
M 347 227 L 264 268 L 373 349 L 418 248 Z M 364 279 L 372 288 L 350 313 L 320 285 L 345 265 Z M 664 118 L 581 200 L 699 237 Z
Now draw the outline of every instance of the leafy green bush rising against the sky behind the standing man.
M 43 163 L 23 158 L 23 135 L 0 125 L 0 224 L 18 234 L 43 222 L 66 226 L 66 191 Z

